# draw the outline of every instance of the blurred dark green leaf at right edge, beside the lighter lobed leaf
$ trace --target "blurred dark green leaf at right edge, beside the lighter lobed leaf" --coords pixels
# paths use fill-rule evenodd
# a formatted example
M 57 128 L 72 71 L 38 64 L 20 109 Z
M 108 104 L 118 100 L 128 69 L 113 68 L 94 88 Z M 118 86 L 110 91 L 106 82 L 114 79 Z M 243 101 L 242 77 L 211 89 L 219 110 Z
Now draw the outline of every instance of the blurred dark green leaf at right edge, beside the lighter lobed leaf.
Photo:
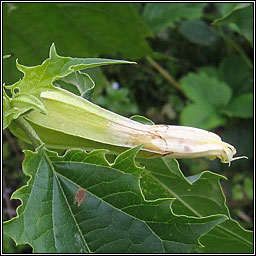
M 234 98 L 222 112 L 230 117 L 252 118 L 253 94 L 245 93 Z

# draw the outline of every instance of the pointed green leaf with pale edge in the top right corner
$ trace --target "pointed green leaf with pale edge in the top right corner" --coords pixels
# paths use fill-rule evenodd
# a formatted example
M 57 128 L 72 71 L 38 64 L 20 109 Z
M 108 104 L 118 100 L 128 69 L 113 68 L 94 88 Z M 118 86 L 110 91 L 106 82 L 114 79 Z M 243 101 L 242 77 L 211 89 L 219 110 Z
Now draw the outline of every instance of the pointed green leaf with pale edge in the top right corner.
M 251 44 L 253 40 L 253 5 L 240 3 L 226 16 L 216 19 L 214 25 L 227 25 L 243 35 Z

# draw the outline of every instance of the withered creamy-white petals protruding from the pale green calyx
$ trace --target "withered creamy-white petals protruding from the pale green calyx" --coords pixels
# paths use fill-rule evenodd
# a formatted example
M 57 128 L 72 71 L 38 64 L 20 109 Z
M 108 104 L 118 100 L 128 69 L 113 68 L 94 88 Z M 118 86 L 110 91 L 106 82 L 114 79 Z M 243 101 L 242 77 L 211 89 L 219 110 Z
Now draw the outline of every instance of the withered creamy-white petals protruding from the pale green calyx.
M 220 158 L 222 163 L 229 163 L 233 160 L 246 158 L 236 157 L 236 149 L 221 140 L 212 132 L 203 129 L 176 126 L 176 125 L 154 125 L 148 127 L 157 136 L 151 141 L 150 148 L 159 148 L 171 158 L 194 158 L 209 157 L 211 160 Z

